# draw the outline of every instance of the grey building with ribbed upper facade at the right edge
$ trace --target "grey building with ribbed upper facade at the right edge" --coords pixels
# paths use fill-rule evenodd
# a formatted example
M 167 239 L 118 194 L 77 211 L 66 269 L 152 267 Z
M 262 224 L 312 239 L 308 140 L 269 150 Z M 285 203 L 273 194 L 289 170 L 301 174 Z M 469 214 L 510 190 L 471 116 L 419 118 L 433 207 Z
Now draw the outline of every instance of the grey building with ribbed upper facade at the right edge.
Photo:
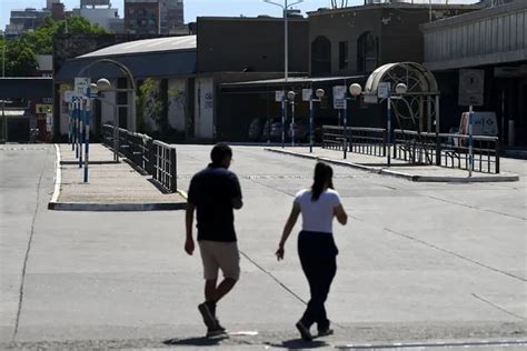
M 499 138 L 527 146 L 527 2 L 487 1 L 488 8 L 421 26 L 425 67 L 441 91 L 441 119 L 458 127 L 471 96 L 463 80 L 479 72 L 476 111 L 496 113 Z M 474 71 L 467 71 L 474 70 Z M 468 96 L 468 97 L 467 97 Z M 463 103 L 461 103 L 463 102 Z

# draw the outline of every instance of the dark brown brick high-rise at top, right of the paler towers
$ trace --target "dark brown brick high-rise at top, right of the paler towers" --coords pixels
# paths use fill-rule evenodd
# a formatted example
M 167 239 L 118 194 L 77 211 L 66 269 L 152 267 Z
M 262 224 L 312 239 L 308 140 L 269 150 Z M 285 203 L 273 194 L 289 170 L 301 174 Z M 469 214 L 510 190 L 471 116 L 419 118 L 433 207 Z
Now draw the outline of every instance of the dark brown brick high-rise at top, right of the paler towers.
M 161 31 L 158 0 L 125 0 L 125 30 L 130 34 L 158 34 Z

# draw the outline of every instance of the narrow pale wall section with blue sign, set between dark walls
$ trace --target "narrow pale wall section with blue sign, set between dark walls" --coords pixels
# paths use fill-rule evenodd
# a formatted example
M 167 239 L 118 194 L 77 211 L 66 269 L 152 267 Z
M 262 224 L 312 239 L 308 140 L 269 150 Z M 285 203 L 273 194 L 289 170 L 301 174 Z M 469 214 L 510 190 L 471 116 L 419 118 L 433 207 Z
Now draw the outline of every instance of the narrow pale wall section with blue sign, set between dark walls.
M 215 137 L 215 90 L 212 78 L 197 78 L 195 87 L 195 137 Z

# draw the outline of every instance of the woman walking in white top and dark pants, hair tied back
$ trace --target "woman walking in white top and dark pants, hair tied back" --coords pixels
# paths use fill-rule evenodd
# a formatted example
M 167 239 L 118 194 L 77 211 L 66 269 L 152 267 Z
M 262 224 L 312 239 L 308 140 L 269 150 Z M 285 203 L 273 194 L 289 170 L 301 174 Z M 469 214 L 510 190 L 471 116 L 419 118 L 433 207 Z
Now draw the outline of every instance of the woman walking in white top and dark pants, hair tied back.
M 276 252 L 278 260 L 284 259 L 287 238 L 301 213 L 302 230 L 298 235 L 298 255 L 309 282 L 311 299 L 296 327 L 306 341 L 312 340 L 310 328 L 314 323 L 317 323 L 318 337 L 332 334 L 324 305 L 337 272 L 338 250 L 332 237 L 332 219 L 336 217 L 342 225 L 348 221 L 340 197 L 334 190 L 332 173 L 331 167 L 317 162 L 311 189 L 301 190 L 295 197 Z

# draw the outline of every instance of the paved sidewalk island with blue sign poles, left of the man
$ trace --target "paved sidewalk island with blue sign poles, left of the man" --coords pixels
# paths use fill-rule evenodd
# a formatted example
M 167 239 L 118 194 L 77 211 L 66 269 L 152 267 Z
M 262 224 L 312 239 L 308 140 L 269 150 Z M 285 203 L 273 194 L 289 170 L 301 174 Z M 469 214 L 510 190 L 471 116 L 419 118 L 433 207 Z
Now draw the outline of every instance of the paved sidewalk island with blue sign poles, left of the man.
M 179 193 L 163 193 L 123 159 L 102 144 L 90 144 L 88 182 L 69 144 L 56 144 L 56 187 L 50 210 L 63 211 L 153 211 L 183 209 Z

